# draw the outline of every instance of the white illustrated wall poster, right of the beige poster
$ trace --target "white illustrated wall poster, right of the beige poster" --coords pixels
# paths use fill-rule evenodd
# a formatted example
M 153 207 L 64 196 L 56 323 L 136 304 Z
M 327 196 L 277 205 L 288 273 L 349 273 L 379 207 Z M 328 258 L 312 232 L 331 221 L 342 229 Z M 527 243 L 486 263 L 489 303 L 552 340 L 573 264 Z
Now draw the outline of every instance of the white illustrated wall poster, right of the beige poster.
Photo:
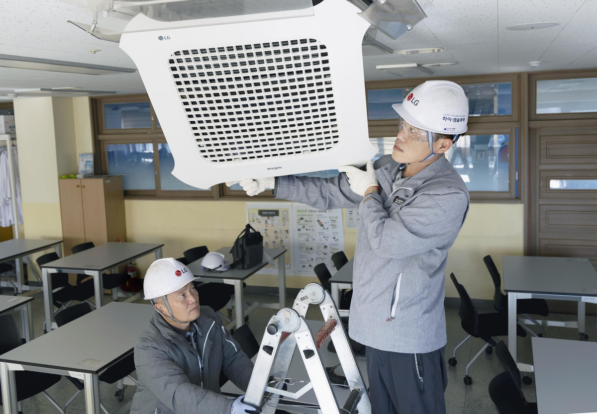
M 331 256 L 344 250 L 342 210 L 318 210 L 293 203 L 294 268 L 297 276 L 315 276 L 313 268 L 325 263 L 331 274 L 336 268 Z

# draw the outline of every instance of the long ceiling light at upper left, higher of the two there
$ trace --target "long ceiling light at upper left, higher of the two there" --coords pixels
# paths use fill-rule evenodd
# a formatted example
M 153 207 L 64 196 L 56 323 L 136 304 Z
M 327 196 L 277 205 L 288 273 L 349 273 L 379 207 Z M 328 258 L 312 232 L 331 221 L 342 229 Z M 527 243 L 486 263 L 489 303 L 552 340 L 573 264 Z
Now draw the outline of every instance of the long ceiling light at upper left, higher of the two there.
M 49 72 L 82 73 L 84 75 L 112 75 L 114 73 L 136 72 L 136 69 L 129 69 L 128 67 L 100 66 L 97 64 L 2 54 L 0 54 L 0 67 L 47 70 Z

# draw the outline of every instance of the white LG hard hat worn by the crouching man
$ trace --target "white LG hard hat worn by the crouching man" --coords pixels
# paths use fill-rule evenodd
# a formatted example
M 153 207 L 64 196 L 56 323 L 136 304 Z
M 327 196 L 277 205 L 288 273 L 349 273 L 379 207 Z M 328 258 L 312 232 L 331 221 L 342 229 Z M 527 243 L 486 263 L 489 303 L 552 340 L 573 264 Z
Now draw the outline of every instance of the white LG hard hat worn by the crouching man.
M 145 300 L 168 295 L 197 280 L 184 264 L 168 257 L 153 262 L 145 273 L 143 292 Z

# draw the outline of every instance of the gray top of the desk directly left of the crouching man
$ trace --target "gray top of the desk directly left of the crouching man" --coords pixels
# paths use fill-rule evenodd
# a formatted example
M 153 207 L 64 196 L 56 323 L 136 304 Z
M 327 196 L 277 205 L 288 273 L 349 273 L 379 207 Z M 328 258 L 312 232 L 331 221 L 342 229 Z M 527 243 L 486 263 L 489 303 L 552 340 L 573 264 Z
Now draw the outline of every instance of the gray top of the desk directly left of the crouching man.
M 99 373 L 133 350 L 152 305 L 110 302 L 0 355 L 0 362 Z

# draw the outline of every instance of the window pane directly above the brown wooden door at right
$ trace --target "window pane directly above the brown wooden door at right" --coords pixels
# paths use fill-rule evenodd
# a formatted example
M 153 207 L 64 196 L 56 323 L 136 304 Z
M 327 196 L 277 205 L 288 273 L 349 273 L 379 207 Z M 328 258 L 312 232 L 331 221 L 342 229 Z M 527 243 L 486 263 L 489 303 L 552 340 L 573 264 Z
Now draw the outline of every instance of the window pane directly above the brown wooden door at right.
M 597 78 L 537 81 L 537 113 L 597 112 Z

